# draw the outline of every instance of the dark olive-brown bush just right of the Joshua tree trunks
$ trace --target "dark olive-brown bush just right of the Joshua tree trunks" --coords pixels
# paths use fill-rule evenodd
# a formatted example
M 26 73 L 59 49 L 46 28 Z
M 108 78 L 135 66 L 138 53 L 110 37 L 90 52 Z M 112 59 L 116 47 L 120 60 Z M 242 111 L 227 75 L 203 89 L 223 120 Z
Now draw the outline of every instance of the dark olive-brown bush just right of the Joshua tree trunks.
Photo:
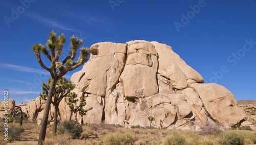
M 74 120 L 65 120 L 58 125 L 58 134 L 68 133 L 72 139 L 79 138 L 82 133 L 82 126 Z

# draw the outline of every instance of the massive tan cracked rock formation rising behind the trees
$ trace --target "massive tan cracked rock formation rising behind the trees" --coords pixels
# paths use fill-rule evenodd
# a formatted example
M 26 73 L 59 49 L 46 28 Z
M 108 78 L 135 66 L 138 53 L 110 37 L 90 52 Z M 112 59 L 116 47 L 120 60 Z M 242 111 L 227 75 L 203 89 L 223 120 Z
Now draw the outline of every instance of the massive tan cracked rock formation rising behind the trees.
M 101 42 L 91 46 L 90 60 L 75 72 L 75 92 L 93 107 L 87 123 L 199 129 L 209 122 L 230 127 L 245 117 L 233 94 L 218 84 L 204 84 L 172 47 L 135 40 L 126 44 Z

